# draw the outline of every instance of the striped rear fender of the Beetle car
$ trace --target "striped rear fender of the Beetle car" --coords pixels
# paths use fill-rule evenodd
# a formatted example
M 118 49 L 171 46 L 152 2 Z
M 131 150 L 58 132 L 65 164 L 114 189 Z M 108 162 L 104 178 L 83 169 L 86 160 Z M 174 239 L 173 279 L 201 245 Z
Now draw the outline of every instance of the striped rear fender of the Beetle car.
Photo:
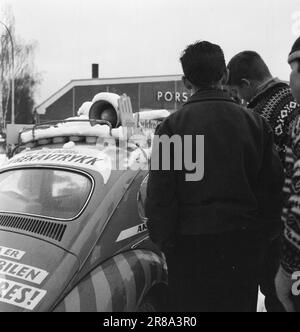
M 166 264 L 151 251 L 119 254 L 96 268 L 61 302 L 58 312 L 134 312 L 150 289 L 166 284 Z

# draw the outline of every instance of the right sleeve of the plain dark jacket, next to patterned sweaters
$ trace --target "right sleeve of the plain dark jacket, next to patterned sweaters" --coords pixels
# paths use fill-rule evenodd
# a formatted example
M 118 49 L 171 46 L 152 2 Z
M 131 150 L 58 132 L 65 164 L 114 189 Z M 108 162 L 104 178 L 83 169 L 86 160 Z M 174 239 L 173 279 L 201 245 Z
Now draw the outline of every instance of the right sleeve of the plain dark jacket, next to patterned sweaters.
M 275 149 L 273 131 L 265 121 L 264 137 L 262 165 L 258 178 L 258 204 L 261 218 L 267 227 L 267 234 L 278 237 L 282 232 L 284 170 Z

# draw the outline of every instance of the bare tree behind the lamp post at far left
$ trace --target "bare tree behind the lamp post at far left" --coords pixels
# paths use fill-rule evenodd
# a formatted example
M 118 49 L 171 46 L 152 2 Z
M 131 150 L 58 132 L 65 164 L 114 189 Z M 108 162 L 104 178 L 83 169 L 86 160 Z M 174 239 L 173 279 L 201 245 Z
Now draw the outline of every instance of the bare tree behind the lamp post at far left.
M 35 42 L 26 43 L 15 33 L 15 18 L 11 7 L 0 12 L 0 21 L 7 25 L 14 43 L 15 118 L 17 123 L 31 123 L 34 95 L 41 83 L 34 66 Z M 12 49 L 10 36 L 0 26 L 0 121 L 3 126 L 11 121 Z

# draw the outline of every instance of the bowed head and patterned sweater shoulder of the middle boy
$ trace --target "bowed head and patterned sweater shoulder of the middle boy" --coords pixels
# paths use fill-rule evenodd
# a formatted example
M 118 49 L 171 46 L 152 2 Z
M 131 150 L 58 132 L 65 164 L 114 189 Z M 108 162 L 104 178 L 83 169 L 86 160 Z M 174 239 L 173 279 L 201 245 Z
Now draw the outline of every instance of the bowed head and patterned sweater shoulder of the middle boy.
M 253 51 L 237 54 L 227 68 L 230 73 L 228 85 L 232 91 L 272 127 L 275 146 L 284 164 L 289 133 L 299 114 L 291 88 L 273 77 L 261 56 Z

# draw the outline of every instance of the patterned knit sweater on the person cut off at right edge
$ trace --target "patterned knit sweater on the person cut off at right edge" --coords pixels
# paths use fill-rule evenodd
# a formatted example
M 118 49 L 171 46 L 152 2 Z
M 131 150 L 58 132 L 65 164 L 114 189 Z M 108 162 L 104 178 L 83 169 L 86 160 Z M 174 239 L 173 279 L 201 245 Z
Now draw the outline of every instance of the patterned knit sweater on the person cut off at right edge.
M 293 274 L 300 271 L 300 116 L 287 148 L 286 172 L 284 193 L 288 200 L 282 214 L 285 231 L 281 265 Z

